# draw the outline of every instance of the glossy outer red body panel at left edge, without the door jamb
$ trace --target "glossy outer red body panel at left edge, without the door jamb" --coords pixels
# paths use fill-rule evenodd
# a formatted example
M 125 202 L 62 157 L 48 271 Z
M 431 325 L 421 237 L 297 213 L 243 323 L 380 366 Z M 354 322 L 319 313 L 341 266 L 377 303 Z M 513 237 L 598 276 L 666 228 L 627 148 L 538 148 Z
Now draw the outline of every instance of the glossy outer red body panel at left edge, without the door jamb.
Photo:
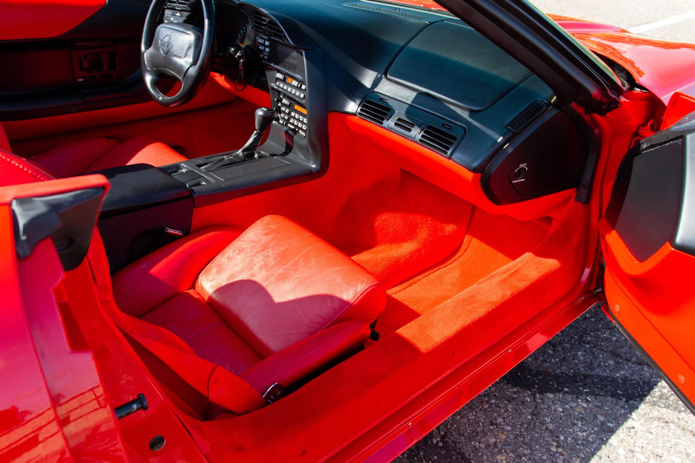
M 12 197 L 108 186 L 101 176 L 25 184 L 0 193 L 0 327 L 3 377 L 0 460 L 126 461 L 113 407 L 92 352 L 64 329 L 52 292 L 63 277 L 50 239 L 17 261 L 9 202 Z M 37 188 L 43 186 L 43 188 Z M 7 330 L 7 332 L 5 332 Z M 74 334 L 74 333 L 73 333 Z M 10 380 L 11 378 L 11 380 Z

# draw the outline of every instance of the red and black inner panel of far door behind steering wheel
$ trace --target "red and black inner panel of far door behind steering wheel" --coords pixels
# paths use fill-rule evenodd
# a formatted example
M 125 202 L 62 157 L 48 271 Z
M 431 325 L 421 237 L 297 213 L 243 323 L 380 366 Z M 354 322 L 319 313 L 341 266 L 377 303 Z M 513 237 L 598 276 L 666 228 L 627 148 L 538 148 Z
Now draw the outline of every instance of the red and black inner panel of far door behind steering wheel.
M 140 35 L 149 3 L 0 0 L 0 61 L 12 70 L 0 74 L 0 120 L 148 101 Z

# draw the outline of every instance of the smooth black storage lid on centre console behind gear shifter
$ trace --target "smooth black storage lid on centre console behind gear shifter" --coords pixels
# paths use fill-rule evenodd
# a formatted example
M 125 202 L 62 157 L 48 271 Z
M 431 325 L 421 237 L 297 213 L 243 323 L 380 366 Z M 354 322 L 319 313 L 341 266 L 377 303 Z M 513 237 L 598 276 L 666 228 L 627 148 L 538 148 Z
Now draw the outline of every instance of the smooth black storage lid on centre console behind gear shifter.
M 101 213 L 169 202 L 190 195 L 186 184 L 149 164 L 122 165 L 89 173 L 102 174 L 111 183 Z

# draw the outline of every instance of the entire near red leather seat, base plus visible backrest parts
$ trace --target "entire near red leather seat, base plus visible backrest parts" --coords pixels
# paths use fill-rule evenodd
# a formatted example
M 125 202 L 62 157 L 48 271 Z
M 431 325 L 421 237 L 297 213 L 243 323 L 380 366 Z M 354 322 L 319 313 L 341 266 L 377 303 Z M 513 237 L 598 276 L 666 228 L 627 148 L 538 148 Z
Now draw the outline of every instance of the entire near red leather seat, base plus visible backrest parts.
M 0 151 L 0 186 L 48 179 Z M 95 232 L 88 261 L 91 277 L 79 281 L 96 286 L 101 307 L 151 371 L 168 375 L 158 377 L 165 390 L 200 416 L 262 407 L 275 382 L 288 386 L 356 350 L 386 302 L 367 270 L 280 216 L 243 233 L 191 234 L 113 280 Z

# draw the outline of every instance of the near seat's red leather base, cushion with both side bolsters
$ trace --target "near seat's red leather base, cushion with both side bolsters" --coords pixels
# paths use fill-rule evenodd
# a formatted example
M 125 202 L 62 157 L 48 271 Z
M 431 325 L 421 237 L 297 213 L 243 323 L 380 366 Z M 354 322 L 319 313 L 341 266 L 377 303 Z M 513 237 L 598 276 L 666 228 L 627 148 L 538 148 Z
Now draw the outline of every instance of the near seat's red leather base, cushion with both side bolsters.
M 361 346 L 386 301 L 367 270 L 279 216 L 181 238 L 113 275 L 113 288 L 126 331 L 186 350 L 163 328 L 259 393 Z

